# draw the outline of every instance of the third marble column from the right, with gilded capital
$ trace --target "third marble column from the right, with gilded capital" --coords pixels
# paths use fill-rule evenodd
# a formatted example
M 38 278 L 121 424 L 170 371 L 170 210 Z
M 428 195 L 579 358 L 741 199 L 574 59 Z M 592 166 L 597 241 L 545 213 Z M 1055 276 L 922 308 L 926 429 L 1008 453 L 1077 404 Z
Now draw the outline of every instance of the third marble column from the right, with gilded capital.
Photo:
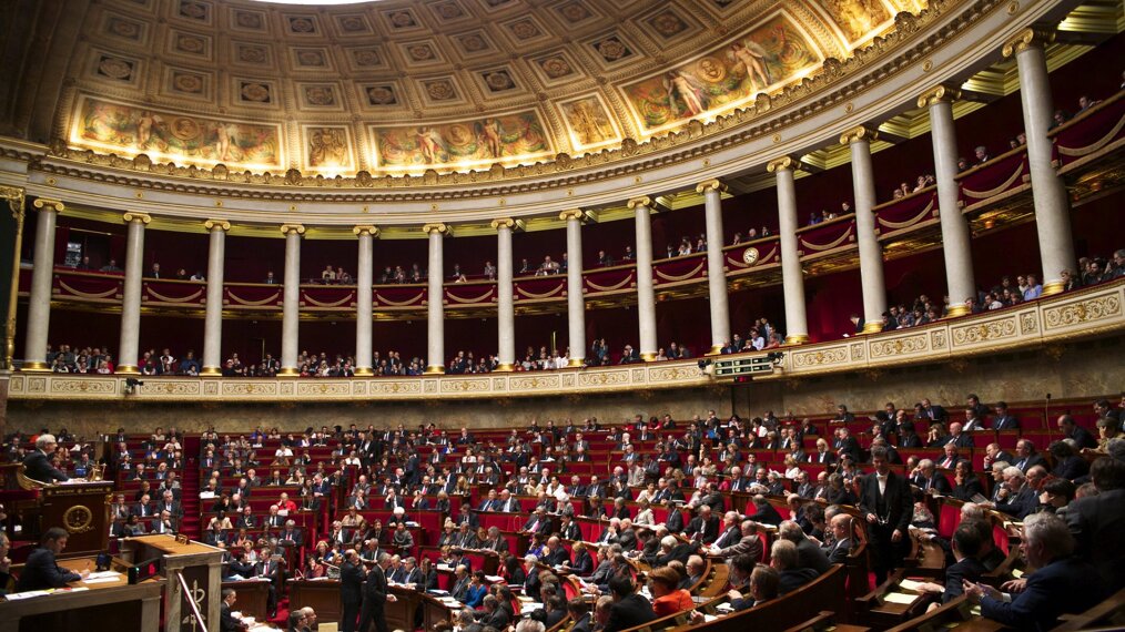
M 874 129 L 854 127 L 840 136 L 852 153 L 852 195 L 855 197 L 855 233 L 860 243 L 860 285 L 863 289 L 864 333 L 883 329 L 886 285 L 883 282 L 883 247 L 875 232 L 875 175 L 871 168 Z

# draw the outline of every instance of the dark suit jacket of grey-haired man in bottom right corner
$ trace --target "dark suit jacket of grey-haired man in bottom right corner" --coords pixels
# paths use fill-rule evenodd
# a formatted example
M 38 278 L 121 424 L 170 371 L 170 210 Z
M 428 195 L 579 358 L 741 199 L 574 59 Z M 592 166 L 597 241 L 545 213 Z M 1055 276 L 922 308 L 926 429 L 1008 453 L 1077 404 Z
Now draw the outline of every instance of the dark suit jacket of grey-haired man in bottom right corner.
M 1030 574 L 1027 587 L 1012 595 L 1011 603 L 981 599 L 981 614 L 1019 630 L 1050 630 L 1060 615 L 1087 611 L 1109 595 L 1101 581 L 1091 580 L 1096 574 L 1077 558 L 1055 560 Z

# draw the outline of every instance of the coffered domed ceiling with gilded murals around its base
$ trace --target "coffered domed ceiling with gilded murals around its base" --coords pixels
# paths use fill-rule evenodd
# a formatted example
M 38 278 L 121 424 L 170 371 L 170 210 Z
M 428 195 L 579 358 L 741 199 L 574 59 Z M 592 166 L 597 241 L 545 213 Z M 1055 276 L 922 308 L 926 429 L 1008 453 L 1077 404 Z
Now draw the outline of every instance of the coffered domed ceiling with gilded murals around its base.
M 924 0 L 100 0 L 73 147 L 274 173 L 488 170 L 645 142 L 845 58 Z

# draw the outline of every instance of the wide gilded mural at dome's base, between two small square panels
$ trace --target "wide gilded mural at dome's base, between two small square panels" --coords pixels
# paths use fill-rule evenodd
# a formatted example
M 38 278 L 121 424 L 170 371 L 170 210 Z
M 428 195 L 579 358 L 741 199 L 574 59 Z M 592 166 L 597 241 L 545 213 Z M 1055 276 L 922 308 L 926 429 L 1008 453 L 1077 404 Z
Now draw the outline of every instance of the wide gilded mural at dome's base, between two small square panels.
M 534 111 L 439 125 L 372 127 L 380 168 L 470 166 L 554 155 Z

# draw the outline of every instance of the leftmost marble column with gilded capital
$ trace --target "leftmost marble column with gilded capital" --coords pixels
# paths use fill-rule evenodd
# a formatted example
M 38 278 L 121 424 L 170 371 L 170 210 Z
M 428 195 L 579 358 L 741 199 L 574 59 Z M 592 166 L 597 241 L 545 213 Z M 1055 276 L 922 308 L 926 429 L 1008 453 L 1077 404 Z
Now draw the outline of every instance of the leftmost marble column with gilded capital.
M 35 261 L 27 305 L 24 370 L 50 371 L 47 334 L 51 329 L 51 286 L 55 272 L 55 225 L 65 205 L 58 200 L 39 198 L 33 206 L 39 209 L 39 220 L 35 226 Z

